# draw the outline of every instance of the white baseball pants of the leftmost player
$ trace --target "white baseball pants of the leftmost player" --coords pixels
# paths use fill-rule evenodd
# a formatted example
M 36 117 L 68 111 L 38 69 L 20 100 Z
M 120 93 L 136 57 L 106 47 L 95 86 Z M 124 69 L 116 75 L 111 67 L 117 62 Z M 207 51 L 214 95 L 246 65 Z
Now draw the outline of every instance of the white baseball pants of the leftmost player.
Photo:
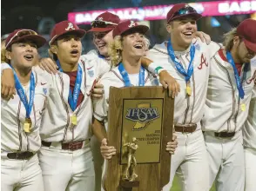
M 1 190 L 44 191 L 37 155 L 29 160 L 1 158 Z

